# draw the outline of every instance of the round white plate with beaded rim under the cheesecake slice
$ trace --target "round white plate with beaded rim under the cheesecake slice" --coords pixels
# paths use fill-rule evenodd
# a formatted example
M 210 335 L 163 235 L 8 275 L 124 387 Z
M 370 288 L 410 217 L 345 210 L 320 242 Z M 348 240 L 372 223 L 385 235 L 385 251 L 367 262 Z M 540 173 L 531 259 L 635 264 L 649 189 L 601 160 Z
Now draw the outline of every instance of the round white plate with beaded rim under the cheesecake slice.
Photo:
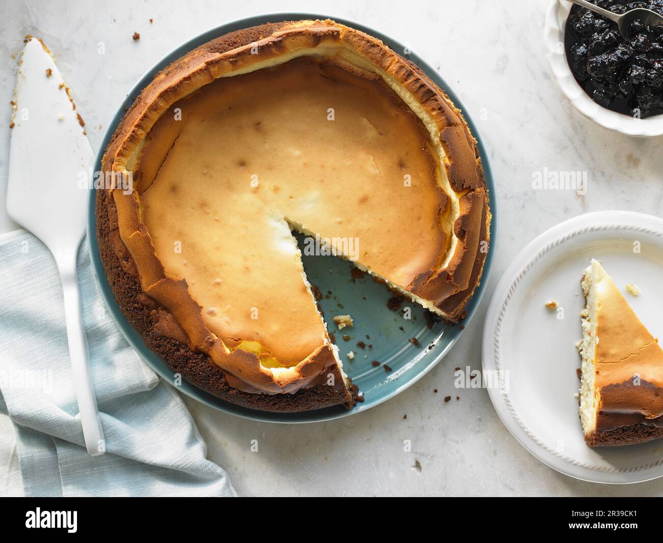
M 550 467 L 597 483 L 655 479 L 663 475 L 663 440 L 594 449 L 583 440 L 575 343 L 584 306 L 580 278 L 592 258 L 622 292 L 629 282 L 642 289 L 637 298 L 625 296 L 663 338 L 663 219 L 631 211 L 579 215 L 529 243 L 497 284 L 483 330 L 484 383 L 493 377 L 489 393 L 502 422 Z M 561 318 L 545 307 L 551 299 Z

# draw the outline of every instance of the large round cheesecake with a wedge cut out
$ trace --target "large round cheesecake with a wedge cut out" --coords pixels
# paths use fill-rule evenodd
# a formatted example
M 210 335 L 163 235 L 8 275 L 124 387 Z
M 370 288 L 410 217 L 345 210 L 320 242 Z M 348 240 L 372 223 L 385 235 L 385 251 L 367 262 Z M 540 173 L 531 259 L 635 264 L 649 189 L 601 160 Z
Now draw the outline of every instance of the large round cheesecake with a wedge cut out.
M 461 111 L 412 62 L 334 21 L 237 30 L 176 60 L 135 99 L 102 167 L 132 180 L 96 201 L 121 310 L 173 371 L 247 408 L 357 397 L 293 232 L 448 322 L 481 279 L 491 213 Z

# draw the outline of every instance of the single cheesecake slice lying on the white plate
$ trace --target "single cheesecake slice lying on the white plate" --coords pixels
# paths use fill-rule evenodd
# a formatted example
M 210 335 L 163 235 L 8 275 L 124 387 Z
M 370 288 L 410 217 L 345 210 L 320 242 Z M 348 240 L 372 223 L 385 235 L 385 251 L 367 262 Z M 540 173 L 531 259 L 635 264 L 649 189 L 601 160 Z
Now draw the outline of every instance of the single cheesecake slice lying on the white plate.
M 663 438 L 663 349 L 601 263 L 591 261 L 581 286 L 580 420 L 587 445 Z

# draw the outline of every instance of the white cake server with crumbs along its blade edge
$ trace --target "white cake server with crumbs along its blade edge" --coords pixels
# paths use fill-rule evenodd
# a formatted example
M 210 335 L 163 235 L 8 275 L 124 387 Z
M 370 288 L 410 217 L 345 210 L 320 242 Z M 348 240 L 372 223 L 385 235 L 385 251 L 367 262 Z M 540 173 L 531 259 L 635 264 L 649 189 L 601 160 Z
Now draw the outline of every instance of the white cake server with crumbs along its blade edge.
M 94 155 L 50 52 L 35 38 L 27 40 L 19 60 L 14 103 L 7 211 L 55 257 L 86 448 L 92 456 L 101 455 L 105 441 L 90 379 L 76 274 L 88 196 L 80 180 L 89 176 Z

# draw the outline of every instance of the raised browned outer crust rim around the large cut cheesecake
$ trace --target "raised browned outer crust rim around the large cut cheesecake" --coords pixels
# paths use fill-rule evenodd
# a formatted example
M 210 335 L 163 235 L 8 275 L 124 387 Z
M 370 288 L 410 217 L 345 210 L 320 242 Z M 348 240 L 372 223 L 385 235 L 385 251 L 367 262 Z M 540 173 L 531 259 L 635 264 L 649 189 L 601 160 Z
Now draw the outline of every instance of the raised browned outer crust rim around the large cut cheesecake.
M 137 97 L 111 138 L 103 170 L 133 171 L 140 161 L 145 138 L 160 115 L 216 78 L 247 72 L 255 69 L 256 63 L 274 59 L 280 62 L 296 58 L 302 52 L 325 48 L 348 50 L 352 58 L 356 56 L 385 80 L 396 82 L 434 123 L 432 129 L 439 135 L 436 145 L 439 143 L 444 154 L 442 166 L 451 190 L 457 195 L 452 226 L 454 243 L 440 255 L 438 267 L 422 270 L 405 287 L 414 297 L 432 301 L 434 309 L 448 320 L 457 321 L 463 318 L 467 301 L 479 284 L 489 242 L 491 215 L 477 144 L 460 111 L 444 91 L 414 64 L 363 32 L 333 21 L 290 21 L 231 32 L 194 49 L 157 74 Z M 353 64 L 343 68 L 361 72 Z M 141 183 L 140 178 L 134 181 Z M 276 377 L 261 365 L 255 353 L 239 348 L 230 351 L 211 333 L 186 280 L 168 274 L 158 259 L 141 217 L 136 191 L 131 194 L 119 189 L 99 191 L 97 238 L 100 250 L 103 245 L 102 261 L 111 288 L 129 322 L 172 369 L 182 369 L 182 375 L 197 386 L 235 403 L 267 410 L 308 410 L 351 404 L 351 394 L 331 345 L 321 344 L 320 349 Z M 151 316 L 151 326 L 147 325 L 145 311 Z M 167 342 L 166 337 L 176 343 Z M 168 343 L 167 348 L 164 342 Z M 194 355 L 184 357 L 184 366 L 180 362 L 183 349 Z M 207 363 L 205 370 L 199 367 L 200 360 Z M 210 372 L 216 376 L 214 379 Z M 329 375 L 334 377 L 333 386 L 322 385 Z M 248 394 L 251 400 L 243 394 Z

